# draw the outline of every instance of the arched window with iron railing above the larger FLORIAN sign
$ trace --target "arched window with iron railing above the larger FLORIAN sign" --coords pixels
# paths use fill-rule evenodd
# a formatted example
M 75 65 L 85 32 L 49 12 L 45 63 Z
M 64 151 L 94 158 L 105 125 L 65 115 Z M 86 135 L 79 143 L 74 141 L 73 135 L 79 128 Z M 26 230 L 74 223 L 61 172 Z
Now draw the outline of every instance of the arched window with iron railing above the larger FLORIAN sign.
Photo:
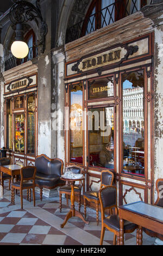
M 83 23 L 83 35 L 136 13 L 151 0 L 93 0 Z

